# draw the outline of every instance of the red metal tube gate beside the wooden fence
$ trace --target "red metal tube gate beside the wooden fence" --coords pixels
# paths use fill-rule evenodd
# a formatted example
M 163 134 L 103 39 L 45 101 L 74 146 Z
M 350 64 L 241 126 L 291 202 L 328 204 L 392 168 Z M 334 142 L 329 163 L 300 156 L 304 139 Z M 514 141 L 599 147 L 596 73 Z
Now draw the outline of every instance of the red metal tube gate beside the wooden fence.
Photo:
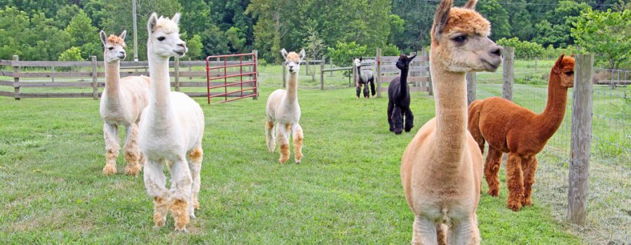
M 244 58 L 246 60 L 243 60 Z M 245 72 L 243 71 L 244 68 L 246 69 Z M 213 97 L 224 97 L 224 100 L 221 101 L 222 103 L 247 97 L 258 97 L 259 84 L 257 81 L 257 69 L 257 55 L 254 52 L 247 54 L 215 55 L 206 57 L 208 104 L 210 104 L 210 98 Z M 229 80 L 229 78 L 231 79 Z M 246 80 L 244 80 L 244 78 Z M 245 88 L 243 87 L 244 85 Z M 229 87 L 240 87 L 240 89 L 229 90 Z M 220 90 L 222 88 L 223 92 L 211 91 Z M 228 97 L 231 97 L 231 99 L 228 99 Z

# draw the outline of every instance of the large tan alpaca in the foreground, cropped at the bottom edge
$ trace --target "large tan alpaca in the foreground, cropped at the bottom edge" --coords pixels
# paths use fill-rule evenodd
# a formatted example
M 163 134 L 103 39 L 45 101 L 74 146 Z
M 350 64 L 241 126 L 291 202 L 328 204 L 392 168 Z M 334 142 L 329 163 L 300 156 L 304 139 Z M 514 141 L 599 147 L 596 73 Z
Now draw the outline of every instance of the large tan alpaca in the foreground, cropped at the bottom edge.
M 407 146 L 401 183 L 414 213 L 412 244 L 480 244 L 475 209 L 480 200 L 482 153 L 467 131 L 468 71 L 495 71 L 501 47 L 477 0 L 453 8 L 442 0 L 431 31 L 430 72 L 436 117 Z M 447 229 L 447 230 L 446 230 Z

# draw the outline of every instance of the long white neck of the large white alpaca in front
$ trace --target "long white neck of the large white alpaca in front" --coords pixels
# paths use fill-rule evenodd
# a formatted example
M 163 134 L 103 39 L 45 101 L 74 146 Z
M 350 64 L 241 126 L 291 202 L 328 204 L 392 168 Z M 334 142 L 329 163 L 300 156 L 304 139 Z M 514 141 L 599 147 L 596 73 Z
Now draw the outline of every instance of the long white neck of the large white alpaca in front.
M 169 59 L 168 57 L 155 57 L 151 54 L 151 50 L 147 53 L 149 56 L 149 77 L 151 78 L 151 105 L 168 109 L 171 102 Z

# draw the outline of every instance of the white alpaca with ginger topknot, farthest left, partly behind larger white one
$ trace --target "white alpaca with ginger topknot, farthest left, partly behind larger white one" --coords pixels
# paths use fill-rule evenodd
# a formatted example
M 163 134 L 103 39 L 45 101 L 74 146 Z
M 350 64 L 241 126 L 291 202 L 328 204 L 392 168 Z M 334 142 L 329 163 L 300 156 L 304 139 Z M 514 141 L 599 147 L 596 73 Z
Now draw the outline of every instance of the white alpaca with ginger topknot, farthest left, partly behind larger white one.
M 116 174 L 116 158 L 120 149 L 118 126 L 125 126 L 123 156 L 127 162 L 125 174 L 137 176 L 144 162 L 138 147 L 138 122 L 142 110 L 149 103 L 149 78 L 128 76 L 121 79 L 120 62 L 125 59 L 125 36 L 110 35 L 101 31 L 103 57 L 105 63 L 105 89 L 101 95 L 100 114 L 103 118 L 103 138 L 105 140 L 105 167 L 103 174 Z

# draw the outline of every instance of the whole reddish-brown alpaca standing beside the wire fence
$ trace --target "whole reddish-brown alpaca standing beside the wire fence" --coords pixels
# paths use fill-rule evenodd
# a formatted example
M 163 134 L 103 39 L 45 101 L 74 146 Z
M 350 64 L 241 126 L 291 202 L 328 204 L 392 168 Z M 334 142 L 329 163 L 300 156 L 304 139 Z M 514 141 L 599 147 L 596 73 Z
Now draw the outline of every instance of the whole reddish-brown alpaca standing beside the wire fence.
M 502 153 L 506 162 L 507 206 L 518 211 L 530 205 L 532 184 L 537 169 L 537 153 L 555 134 L 565 116 L 567 89 L 574 86 L 574 58 L 561 55 L 550 71 L 548 104 L 541 114 L 535 114 L 506 99 L 491 97 L 477 100 L 469 106 L 469 131 L 480 151 L 489 143 L 484 178 L 489 195 L 499 193 L 498 171 Z

